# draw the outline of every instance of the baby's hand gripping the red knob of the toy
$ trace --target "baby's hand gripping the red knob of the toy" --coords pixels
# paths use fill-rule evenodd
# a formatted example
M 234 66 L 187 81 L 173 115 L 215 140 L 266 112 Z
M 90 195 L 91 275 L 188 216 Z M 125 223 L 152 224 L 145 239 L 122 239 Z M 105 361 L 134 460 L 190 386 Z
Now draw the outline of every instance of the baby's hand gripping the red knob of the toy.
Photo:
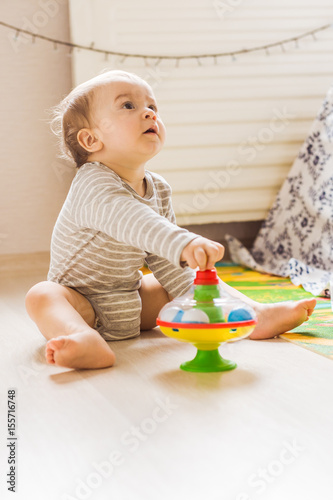
M 186 261 L 192 269 L 199 266 L 200 270 L 204 271 L 205 269 L 212 269 L 215 262 L 222 259 L 223 255 L 223 245 L 200 236 L 186 245 L 180 260 Z

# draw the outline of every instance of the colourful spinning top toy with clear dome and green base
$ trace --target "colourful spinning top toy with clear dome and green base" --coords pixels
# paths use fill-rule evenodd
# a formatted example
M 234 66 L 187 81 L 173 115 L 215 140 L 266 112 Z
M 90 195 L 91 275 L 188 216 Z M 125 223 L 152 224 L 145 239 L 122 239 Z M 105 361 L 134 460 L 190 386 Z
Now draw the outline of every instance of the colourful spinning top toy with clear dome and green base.
M 216 269 L 197 271 L 190 290 L 166 304 L 157 324 L 168 337 L 197 348 L 191 361 L 180 365 L 192 372 L 220 372 L 236 368 L 223 359 L 218 347 L 248 337 L 257 324 L 254 310 L 227 293 Z

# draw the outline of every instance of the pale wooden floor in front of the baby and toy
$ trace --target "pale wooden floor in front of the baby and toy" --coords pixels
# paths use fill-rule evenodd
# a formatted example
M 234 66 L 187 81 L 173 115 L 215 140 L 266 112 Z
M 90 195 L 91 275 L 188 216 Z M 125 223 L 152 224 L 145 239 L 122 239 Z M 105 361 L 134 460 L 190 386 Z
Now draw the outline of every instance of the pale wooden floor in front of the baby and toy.
M 223 374 L 179 369 L 195 350 L 158 329 L 114 342 L 117 364 L 46 365 L 24 310 L 44 279 L 2 274 L 1 498 L 331 498 L 333 363 L 281 339 L 220 347 Z M 16 391 L 16 494 L 7 491 L 7 390 Z

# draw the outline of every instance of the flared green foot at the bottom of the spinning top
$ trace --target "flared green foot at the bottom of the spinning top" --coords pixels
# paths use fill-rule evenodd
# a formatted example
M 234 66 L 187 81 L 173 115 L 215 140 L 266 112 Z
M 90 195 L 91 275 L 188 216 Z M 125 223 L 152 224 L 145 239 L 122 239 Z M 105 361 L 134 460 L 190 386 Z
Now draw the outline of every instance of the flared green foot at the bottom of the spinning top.
M 228 359 L 223 359 L 218 349 L 202 351 L 198 349 L 197 355 L 191 361 L 182 363 L 180 368 L 188 372 L 224 372 L 233 370 L 237 364 Z

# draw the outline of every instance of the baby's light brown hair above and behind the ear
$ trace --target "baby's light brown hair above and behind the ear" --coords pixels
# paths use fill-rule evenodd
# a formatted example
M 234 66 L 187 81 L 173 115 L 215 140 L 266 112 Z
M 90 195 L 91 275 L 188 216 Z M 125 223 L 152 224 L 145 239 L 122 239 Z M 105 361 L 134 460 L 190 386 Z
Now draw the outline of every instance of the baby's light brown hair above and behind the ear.
M 119 79 L 144 82 L 134 73 L 120 70 L 106 71 L 75 87 L 51 110 L 51 129 L 59 138 L 61 157 L 74 160 L 78 168 L 88 161 L 90 154 L 78 142 L 77 134 L 82 128 L 90 128 L 93 124 L 91 109 L 96 89 Z

